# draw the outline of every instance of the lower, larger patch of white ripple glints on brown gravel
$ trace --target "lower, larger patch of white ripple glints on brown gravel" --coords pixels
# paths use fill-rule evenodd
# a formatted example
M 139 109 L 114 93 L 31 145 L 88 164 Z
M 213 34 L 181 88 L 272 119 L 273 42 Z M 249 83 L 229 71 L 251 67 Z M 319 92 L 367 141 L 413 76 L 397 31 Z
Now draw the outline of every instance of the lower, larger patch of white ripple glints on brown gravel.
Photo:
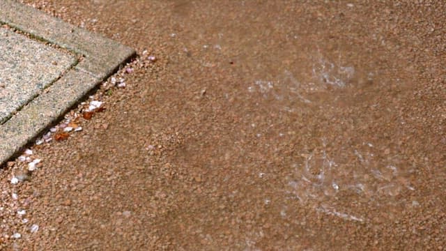
M 286 196 L 290 199 L 302 204 L 322 203 L 325 206 L 316 206 L 317 211 L 363 221 L 362 217 L 339 212 L 330 204 L 343 199 L 375 207 L 399 206 L 401 192 L 416 189 L 409 179 L 415 167 L 410 169 L 399 155 L 380 153 L 370 143 L 364 143 L 362 149 L 334 153 L 327 151 L 323 140 L 321 145 L 319 150 L 302 153 L 292 165 L 293 175 L 286 178 Z

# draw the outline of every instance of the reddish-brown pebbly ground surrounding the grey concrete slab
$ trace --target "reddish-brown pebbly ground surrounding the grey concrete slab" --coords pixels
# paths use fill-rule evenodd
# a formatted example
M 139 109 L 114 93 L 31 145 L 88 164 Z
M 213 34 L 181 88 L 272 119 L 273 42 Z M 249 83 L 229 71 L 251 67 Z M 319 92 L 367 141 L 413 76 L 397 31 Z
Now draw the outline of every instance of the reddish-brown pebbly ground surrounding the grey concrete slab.
M 33 149 L 17 247 L 446 247 L 444 3 L 29 2 L 140 58 Z

